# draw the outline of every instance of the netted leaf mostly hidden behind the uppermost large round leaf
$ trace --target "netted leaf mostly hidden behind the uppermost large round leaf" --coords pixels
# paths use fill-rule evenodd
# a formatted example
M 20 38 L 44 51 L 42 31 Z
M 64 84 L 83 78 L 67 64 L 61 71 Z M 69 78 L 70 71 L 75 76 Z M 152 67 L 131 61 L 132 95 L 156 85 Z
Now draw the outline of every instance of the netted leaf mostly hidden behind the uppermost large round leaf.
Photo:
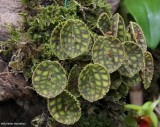
M 57 27 L 54 28 L 51 34 L 50 44 L 51 44 L 51 49 L 53 50 L 53 53 L 60 60 L 65 60 L 65 59 L 68 59 L 69 56 L 63 51 L 60 45 L 60 30 L 62 29 L 62 25 L 63 24 L 59 24 Z

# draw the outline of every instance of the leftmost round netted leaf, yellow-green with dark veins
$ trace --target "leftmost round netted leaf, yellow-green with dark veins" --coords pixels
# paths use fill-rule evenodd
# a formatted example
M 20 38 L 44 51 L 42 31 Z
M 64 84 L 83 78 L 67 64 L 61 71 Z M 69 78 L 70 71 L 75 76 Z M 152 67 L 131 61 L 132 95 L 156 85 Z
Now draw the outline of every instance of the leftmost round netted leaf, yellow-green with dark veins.
M 67 85 L 66 72 L 57 61 L 43 61 L 34 70 L 32 83 L 36 92 L 43 97 L 55 97 Z

